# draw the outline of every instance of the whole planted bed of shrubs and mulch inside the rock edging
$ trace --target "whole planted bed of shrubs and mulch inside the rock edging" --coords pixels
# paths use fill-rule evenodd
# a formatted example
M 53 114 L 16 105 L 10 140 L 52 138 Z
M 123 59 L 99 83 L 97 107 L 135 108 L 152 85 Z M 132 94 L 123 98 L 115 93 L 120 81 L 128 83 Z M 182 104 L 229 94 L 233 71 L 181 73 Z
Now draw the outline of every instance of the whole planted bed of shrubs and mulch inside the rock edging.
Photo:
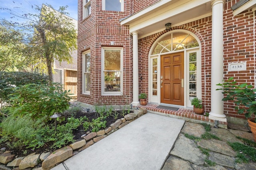
M 69 92 L 63 92 L 59 84 L 15 87 L 9 103 L 2 109 L 0 148 L 6 147 L 17 156 L 54 151 L 81 140 L 86 131 L 110 126 L 130 112 L 113 106 L 94 106 L 96 111 L 86 112 L 84 107 L 71 106 Z M 54 119 L 49 117 L 56 112 L 62 116 L 56 119 L 55 131 Z

